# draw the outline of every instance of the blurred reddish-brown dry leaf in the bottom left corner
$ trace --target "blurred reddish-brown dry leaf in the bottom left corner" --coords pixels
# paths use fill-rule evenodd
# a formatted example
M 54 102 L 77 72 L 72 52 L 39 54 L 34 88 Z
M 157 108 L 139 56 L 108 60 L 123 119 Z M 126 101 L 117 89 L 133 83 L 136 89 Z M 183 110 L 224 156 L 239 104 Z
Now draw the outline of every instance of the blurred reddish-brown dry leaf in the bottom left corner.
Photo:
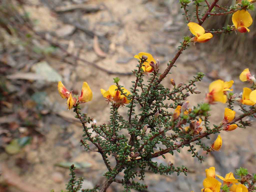
M 9 167 L 3 163 L 2 164 L 2 176 L 4 177 L 8 185 L 17 187 L 24 192 L 47 192 L 45 190 L 34 187 L 28 183 L 25 183 L 18 175 L 16 175 Z

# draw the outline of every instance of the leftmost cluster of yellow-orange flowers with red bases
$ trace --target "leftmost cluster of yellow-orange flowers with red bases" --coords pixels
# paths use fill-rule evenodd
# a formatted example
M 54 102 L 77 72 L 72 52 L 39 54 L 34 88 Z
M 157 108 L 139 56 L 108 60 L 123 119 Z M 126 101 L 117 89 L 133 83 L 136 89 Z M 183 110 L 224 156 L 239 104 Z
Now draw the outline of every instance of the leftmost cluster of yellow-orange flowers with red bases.
M 76 104 L 86 103 L 92 100 L 92 91 L 87 82 L 83 82 L 81 95 L 77 95 L 75 97 L 72 97 L 72 91 L 69 92 L 61 81 L 59 81 L 58 83 L 58 91 L 63 99 L 67 99 L 67 105 L 69 110 L 72 109 L 72 107 Z

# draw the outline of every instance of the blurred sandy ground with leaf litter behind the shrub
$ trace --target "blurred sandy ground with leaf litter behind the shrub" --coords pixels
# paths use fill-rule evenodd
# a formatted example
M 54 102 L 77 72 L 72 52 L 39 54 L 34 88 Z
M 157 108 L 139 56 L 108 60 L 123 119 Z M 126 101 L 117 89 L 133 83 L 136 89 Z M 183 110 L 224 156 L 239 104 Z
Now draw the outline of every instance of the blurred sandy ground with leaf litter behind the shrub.
M 211 2 L 211 1 L 209 1 Z M 225 6 L 234 1 L 223 1 Z M 220 5 L 223 3 L 219 2 Z M 66 100 L 58 94 L 62 81 L 74 94 L 80 94 L 83 81 L 93 100 L 81 104 L 82 112 L 107 123 L 110 106 L 100 89 L 108 90 L 114 77 L 126 89 L 132 87 L 137 65 L 134 55 L 148 52 L 159 59 L 160 71 L 172 60 L 183 36 L 190 35 L 183 10 L 174 0 L 0 0 L 0 191 L 65 190 L 69 166 L 75 163 L 77 176 L 85 178 L 83 188 L 104 181 L 105 166 L 98 154 L 80 147 L 82 127 Z M 190 13 L 193 6 L 190 5 Z M 218 11 L 218 9 L 215 9 Z M 203 12 L 203 10 L 202 10 Z M 253 20 L 255 13 L 250 11 Z M 194 21 L 195 20 L 191 20 Z M 232 25 L 231 15 L 210 17 L 205 29 Z M 190 107 L 203 101 L 210 82 L 234 80 L 233 92 L 242 92 L 248 83 L 239 74 L 249 68 L 255 74 L 255 22 L 250 33 L 214 35 L 206 43 L 192 44 L 180 56 L 163 84 L 172 88 L 186 83 L 202 71 L 206 77 L 197 83 L 202 93 L 188 97 Z M 212 106 L 212 123 L 223 119 L 224 104 Z M 239 108 L 236 106 L 236 115 Z M 126 115 L 126 108 L 120 113 Z M 252 119 L 253 120 L 253 119 Z M 255 124 L 254 124 L 255 125 Z M 216 173 L 234 172 L 244 166 L 256 172 L 256 130 L 254 127 L 221 132 L 221 152 L 205 155 L 205 162 L 181 153 L 158 157 L 156 162 L 185 165 L 188 176 L 146 173 L 148 192 L 200 191 L 205 169 Z M 207 140 L 209 145 L 217 135 Z M 121 178 L 121 177 L 120 177 Z M 113 184 L 108 189 L 121 191 Z

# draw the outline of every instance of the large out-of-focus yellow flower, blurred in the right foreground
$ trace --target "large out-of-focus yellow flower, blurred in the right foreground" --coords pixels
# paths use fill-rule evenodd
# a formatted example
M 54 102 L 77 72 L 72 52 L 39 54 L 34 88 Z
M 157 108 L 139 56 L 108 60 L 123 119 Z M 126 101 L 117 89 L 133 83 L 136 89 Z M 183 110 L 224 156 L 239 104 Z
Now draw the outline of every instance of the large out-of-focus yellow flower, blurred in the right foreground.
M 213 104 L 215 101 L 226 103 L 227 95 L 223 93 L 224 81 L 218 79 L 209 85 L 209 93 L 206 94 L 205 103 Z

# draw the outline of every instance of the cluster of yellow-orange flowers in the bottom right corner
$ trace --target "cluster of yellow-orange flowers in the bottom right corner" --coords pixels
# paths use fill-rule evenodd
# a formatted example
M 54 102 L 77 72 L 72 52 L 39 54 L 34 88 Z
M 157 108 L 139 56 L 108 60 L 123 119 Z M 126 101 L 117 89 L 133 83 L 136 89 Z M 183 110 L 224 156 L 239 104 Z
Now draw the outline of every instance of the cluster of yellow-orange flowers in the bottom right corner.
M 242 185 L 239 182 L 239 179 L 234 178 L 232 172 L 226 174 L 225 178 L 217 175 L 215 173 L 215 167 L 210 167 L 209 169 L 205 169 L 206 178 L 203 181 L 204 188 L 201 189 L 202 192 L 220 192 L 221 182 L 216 179 L 216 176 L 223 180 L 222 186 L 226 188 L 225 191 L 231 192 L 248 192 L 246 186 Z M 232 185 L 231 185 L 232 184 Z

